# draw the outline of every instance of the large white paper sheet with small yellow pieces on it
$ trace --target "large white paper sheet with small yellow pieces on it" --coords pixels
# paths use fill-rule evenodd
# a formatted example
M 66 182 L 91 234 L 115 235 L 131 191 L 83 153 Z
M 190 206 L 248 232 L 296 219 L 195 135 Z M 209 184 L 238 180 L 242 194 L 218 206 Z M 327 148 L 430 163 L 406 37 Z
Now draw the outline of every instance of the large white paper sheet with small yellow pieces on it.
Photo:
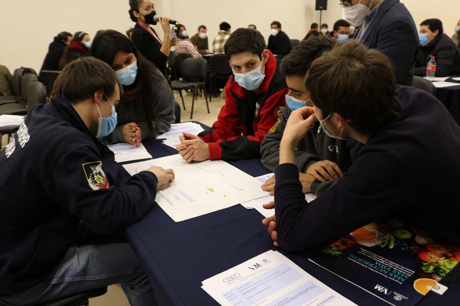
M 175 222 L 267 195 L 260 181 L 220 160 L 188 164 L 177 154 L 123 167 L 133 175 L 151 166 L 174 170 L 175 181 L 158 192 L 156 202 Z

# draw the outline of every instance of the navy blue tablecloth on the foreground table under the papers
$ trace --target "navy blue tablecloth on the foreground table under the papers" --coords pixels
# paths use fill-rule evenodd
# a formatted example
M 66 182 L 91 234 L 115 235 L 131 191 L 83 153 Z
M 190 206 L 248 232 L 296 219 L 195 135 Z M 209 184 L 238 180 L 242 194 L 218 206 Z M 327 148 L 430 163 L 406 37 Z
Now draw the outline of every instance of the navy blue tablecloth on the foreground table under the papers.
M 146 147 L 153 158 L 177 153 L 160 143 Z M 260 159 L 231 164 L 252 176 L 269 173 Z M 120 171 L 126 180 L 127 172 Z M 359 305 L 388 305 L 309 262 L 308 253 L 287 254 L 274 247 L 262 219 L 256 210 L 238 205 L 176 223 L 160 207 L 154 206 L 143 220 L 127 229 L 126 237 L 143 263 L 160 305 L 218 305 L 201 289 L 201 282 L 270 249 L 282 252 L 319 281 Z M 420 304 L 435 303 L 460 304 L 460 282 L 443 296 L 429 293 Z

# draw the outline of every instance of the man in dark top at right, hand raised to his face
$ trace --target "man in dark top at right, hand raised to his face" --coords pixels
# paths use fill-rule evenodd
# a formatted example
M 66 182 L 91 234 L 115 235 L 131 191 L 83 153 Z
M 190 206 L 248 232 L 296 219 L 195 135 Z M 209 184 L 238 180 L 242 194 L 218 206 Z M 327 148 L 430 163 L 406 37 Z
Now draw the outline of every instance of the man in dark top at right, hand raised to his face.
M 319 250 L 395 215 L 440 240 L 460 243 L 460 127 L 446 107 L 425 91 L 397 87 L 385 55 L 355 40 L 315 60 L 305 87 L 313 108 L 289 116 L 275 169 L 276 217 L 263 221 L 275 244 L 286 251 Z M 334 137 L 364 145 L 339 182 L 307 203 L 295 148 L 317 120 Z M 439 194 L 443 210 L 433 209 Z M 272 207 L 273 202 L 265 205 Z M 440 218 L 442 223 L 432 222 Z

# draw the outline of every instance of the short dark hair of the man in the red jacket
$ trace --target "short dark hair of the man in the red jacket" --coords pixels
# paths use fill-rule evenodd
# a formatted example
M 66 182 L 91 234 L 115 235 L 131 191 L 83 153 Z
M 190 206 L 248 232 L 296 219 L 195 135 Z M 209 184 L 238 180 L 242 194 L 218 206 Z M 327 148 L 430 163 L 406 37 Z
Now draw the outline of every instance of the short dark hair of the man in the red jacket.
M 240 28 L 228 38 L 224 45 L 224 52 L 228 60 L 232 55 L 246 51 L 257 54 L 262 59 L 262 52 L 265 47 L 265 39 L 259 31 Z

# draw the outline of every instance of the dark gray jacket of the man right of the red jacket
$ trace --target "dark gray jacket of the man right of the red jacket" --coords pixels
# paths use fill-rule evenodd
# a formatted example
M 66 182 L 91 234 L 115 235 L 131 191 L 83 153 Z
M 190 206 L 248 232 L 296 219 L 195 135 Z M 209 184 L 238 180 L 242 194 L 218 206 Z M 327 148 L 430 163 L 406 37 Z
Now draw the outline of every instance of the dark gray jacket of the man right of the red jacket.
M 268 134 L 262 141 L 260 149 L 262 164 L 270 171 L 274 171 L 279 165 L 280 142 L 291 112 L 286 105 L 281 119 L 268 131 Z M 295 165 L 299 172 L 305 173 L 312 164 L 318 161 L 330 160 L 336 163 L 342 172 L 346 172 L 358 157 L 362 146 L 362 143 L 354 139 L 340 140 L 327 136 L 321 130 L 319 123 L 316 122 L 315 127 L 310 129 L 304 139 L 297 145 L 295 150 Z M 310 189 L 311 192 L 320 195 L 336 182 L 337 180 L 321 183 L 315 180 L 311 184 Z

